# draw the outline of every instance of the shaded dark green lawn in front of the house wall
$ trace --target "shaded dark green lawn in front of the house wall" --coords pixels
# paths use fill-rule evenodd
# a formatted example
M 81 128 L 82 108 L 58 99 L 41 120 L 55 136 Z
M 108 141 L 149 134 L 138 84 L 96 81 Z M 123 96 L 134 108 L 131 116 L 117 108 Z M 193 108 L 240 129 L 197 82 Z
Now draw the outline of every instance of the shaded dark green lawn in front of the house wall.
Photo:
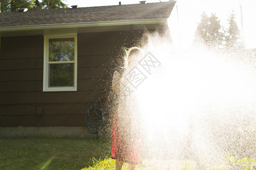
M 23 138 L 0 139 L 0 146 L 0 169 L 82 169 L 109 155 L 111 142 Z

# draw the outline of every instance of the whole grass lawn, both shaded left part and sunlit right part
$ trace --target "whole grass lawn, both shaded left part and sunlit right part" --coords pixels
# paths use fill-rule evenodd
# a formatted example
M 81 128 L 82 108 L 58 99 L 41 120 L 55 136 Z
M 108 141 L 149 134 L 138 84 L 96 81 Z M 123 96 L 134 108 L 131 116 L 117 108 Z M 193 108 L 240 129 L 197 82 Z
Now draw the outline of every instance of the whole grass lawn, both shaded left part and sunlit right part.
M 0 169 L 114 169 L 111 141 L 104 139 L 0 139 Z M 207 159 L 207 158 L 205 158 Z M 205 160 L 143 160 L 140 169 L 255 169 L 252 158 L 226 154 L 220 163 Z M 123 169 L 128 169 L 124 164 Z

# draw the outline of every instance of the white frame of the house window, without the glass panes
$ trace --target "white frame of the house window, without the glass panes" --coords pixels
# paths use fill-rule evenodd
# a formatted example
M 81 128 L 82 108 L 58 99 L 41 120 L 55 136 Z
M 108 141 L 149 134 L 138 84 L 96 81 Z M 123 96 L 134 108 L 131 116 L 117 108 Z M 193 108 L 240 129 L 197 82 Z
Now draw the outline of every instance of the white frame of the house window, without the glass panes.
M 49 39 L 74 38 L 74 61 L 61 61 L 54 63 L 74 63 L 74 86 L 70 87 L 49 87 Z M 61 35 L 44 35 L 44 72 L 43 72 L 43 91 L 77 91 L 77 33 Z

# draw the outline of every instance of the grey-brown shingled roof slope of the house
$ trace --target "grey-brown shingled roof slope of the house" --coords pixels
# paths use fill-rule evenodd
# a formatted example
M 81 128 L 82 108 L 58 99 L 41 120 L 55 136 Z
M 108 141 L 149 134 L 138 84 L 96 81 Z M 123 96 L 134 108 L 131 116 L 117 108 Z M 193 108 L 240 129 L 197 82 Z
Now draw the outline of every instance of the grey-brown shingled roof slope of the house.
M 175 1 L 27 12 L 1 12 L 0 28 L 28 25 L 110 22 L 169 18 Z

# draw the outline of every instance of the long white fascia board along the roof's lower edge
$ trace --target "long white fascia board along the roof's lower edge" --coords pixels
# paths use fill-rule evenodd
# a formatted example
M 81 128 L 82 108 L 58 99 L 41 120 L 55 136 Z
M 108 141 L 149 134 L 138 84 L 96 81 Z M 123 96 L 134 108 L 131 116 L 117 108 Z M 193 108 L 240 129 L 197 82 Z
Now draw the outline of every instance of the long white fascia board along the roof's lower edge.
M 167 19 L 146 19 L 146 20 L 118 20 L 110 22 L 88 22 L 88 23 L 68 23 L 68 24 L 44 24 L 44 25 L 24 25 L 14 27 L 0 27 L 0 32 L 5 31 L 23 31 L 34 29 L 51 29 L 51 28 L 75 28 L 75 27 L 95 27 L 110 25 L 130 25 L 130 24 L 161 24 L 166 23 Z

